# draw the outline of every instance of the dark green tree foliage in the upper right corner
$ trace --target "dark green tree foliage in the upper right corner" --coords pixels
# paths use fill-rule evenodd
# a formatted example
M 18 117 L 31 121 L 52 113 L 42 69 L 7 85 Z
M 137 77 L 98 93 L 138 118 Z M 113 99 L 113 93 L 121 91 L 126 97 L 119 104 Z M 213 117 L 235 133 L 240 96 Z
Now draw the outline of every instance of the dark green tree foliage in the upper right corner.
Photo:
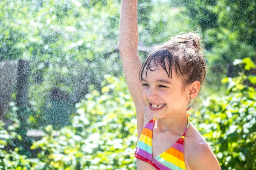
M 228 66 L 234 59 L 255 58 L 256 3 L 254 0 L 192 0 L 183 4 L 192 28 L 204 38 L 209 66 L 207 82 L 220 88 L 227 71 L 233 74 L 228 77 L 236 77 L 241 70 Z

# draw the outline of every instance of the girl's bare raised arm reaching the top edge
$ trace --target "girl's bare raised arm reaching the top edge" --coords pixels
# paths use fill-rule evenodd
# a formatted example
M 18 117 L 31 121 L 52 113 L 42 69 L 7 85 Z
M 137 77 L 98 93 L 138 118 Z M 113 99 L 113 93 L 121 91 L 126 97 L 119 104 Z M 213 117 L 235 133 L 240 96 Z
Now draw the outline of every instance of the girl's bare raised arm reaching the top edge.
M 121 55 L 125 79 L 136 106 L 138 134 L 143 128 L 143 97 L 139 74 L 142 66 L 138 55 L 137 0 L 122 0 L 118 49 Z M 139 135 L 138 135 L 139 136 Z

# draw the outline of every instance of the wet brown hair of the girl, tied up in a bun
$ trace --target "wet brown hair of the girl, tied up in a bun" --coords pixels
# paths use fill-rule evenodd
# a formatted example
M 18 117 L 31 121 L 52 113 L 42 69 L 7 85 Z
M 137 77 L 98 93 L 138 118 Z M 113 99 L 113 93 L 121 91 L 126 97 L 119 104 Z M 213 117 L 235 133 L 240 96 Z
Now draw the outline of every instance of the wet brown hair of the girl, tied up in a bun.
M 183 87 L 197 80 L 203 85 L 207 65 L 200 38 L 199 34 L 187 33 L 171 37 L 169 41 L 154 47 L 140 69 L 140 81 L 142 81 L 144 70 L 145 78 L 147 78 L 148 69 L 150 71 L 164 69 L 168 78 L 172 78 L 173 69 L 178 78 L 182 77 Z M 154 66 L 157 68 L 152 70 Z M 168 70 L 167 66 L 169 66 Z

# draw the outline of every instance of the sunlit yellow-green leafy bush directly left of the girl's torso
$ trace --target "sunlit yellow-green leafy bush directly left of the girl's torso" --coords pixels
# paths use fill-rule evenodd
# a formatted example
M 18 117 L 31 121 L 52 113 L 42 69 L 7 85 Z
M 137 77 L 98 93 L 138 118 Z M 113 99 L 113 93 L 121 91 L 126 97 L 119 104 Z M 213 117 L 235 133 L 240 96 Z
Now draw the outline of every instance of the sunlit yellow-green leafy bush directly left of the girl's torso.
M 106 75 L 102 86 L 76 105 L 72 127 L 53 137 L 56 132 L 48 126 L 47 135 L 32 145 L 42 149 L 42 169 L 136 169 L 135 107 L 125 79 Z

